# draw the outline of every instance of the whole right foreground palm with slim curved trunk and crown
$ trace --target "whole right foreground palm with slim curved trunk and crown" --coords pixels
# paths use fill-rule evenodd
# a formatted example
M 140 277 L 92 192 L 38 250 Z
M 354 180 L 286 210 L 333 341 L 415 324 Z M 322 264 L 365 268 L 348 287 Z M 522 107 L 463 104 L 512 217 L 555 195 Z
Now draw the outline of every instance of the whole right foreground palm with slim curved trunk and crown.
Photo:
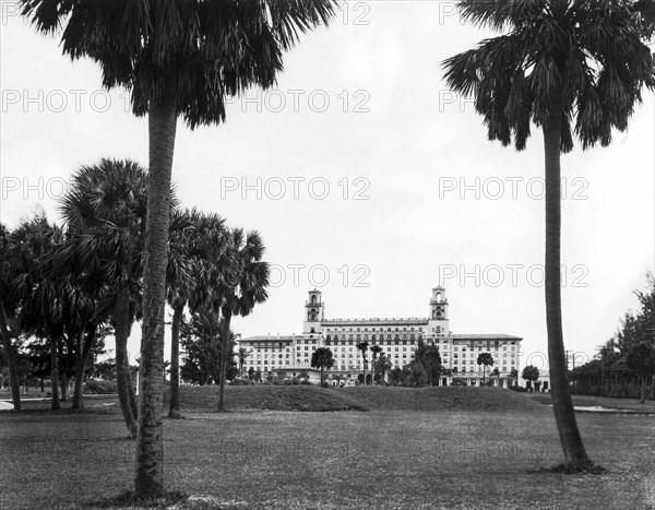
M 560 154 L 611 142 L 624 131 L 644 85 L 655 86 L 646 41 L 653 25 L 627 0 L 461 0 L 464 19 L 498 37 L 445 60 L 445 80 L 475 97 L 489 140 L 525 149 L 531 121 L 544 131 L 546 323 L 553 412 L 567 471 L 588 470 L 568 383 L 561 318 Z M 573 121 L 575 123 L 573 124 Z

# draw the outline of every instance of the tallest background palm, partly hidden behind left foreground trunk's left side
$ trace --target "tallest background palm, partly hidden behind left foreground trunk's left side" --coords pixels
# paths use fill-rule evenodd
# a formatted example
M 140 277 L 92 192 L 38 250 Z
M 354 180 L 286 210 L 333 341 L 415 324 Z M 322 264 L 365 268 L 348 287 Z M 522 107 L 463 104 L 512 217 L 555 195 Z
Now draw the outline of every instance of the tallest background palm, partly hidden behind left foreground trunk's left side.
M 60 207 L 70 237 L 68 258 L 78 262 L 71 265 L 95 276 L 95 292 L 104 293 L 110 310 L 118 398 L 134 438 L 138 405 L 128 339 L 140 308 L 146 192 L 147 171 L 138 163 L 104 158 L 73 174 Z

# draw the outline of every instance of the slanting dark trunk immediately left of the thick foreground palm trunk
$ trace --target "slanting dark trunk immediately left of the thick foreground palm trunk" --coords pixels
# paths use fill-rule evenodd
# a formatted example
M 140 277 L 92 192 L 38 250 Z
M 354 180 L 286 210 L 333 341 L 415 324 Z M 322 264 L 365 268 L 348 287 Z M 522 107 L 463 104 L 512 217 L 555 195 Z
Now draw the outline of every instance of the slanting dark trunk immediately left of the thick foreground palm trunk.
M 132 438 L 136 437 L 136 420 L 130 399 L 133 393 L 132 378 L 130 377 L 130 363 L 128 359 L 128 337 L 130 336 L 130 289 L 122 287 L 116 297 L 116 307 L 112 316 L 114 336 L 116 340 L 116 387 L 118 402 L 122 411 L 126 426 Z

